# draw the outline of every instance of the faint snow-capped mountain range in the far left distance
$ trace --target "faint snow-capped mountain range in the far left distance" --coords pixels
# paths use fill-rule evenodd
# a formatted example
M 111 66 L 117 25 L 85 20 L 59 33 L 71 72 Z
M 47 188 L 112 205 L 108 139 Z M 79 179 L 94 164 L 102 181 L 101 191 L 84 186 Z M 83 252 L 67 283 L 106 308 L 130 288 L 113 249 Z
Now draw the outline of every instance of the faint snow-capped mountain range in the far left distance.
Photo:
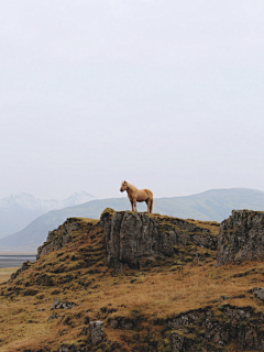
M 0 239 L 22 230 L 47 211 L 74 207 L 94 199 L 96 198 L 86 191 L 76 193 L 63 200 L 42 200 L 25 193 L 0 199 Z

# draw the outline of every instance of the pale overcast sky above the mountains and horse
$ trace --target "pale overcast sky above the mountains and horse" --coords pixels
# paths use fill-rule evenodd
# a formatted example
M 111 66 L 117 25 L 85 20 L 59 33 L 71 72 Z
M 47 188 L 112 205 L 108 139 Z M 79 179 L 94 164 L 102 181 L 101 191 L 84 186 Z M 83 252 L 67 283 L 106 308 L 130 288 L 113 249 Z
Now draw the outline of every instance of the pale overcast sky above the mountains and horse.
M 0 198 L 264 190 L 263 0 L 0 2 Z

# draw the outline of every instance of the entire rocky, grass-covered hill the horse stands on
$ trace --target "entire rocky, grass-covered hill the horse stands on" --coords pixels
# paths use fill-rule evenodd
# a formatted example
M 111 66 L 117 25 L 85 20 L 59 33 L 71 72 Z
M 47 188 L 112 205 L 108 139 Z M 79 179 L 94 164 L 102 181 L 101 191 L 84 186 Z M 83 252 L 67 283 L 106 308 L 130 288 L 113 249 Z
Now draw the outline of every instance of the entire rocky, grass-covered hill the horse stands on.
M 222 222 L 221 238 L 240 233 L 232 255 L 248 230 L 254 254 L 263 219 L 238 211 Z M 263 351 L 263 260 L 216 267 L 218 230 L 112 209 L 68 219 L 0 285 L 1 351 Z

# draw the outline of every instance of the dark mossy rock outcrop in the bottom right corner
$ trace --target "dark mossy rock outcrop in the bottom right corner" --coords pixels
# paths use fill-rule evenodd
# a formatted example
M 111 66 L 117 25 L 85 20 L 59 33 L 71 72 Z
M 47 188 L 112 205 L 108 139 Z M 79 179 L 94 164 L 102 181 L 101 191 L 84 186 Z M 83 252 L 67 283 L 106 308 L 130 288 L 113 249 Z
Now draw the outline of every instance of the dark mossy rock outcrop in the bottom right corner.
M 168 320 L 172 351 L 228 351 L 224 346 L 239 342 L 241 351 L 264 351 L 264 316 L 251 307 L 219 306 L 217 314 L 210 308 L 182 314 Z

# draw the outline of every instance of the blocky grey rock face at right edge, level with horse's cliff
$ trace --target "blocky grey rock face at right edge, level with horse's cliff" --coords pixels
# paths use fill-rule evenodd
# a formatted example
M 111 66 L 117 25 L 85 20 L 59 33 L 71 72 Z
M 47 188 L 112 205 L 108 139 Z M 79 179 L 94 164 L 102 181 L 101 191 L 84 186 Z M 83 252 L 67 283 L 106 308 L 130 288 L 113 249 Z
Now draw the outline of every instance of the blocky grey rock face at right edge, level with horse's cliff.
M 233 210 L 222 221 L 218 235 L 216 266 L 240 260 L 264 257 L 264 212 Z

